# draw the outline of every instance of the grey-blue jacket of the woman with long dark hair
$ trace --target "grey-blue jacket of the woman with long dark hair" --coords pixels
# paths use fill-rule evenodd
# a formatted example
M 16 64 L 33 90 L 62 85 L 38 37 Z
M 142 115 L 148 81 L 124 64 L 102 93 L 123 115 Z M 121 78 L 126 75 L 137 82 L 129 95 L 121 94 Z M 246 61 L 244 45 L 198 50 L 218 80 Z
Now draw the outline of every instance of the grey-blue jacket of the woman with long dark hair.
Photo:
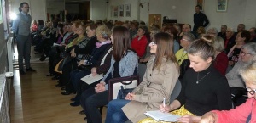
M 130 76 L 133 75 L 134 70 L 137 69 L 138 61 L 137 61 L 137 53 L 132 52 L 131 50 L 127 51 L 127 54 L 120 60 L 119 62 L 119 75 L 121 77 Z M 109 74 L 113 75 L 113 64 L 115 63 L 115 60 L 111 59 L 110 68 L 106 75 L 104 75 L 102 81 L 105 81 L 105 79 L 108 77 Z M 108 83 L 108 81 L 105 81 Z

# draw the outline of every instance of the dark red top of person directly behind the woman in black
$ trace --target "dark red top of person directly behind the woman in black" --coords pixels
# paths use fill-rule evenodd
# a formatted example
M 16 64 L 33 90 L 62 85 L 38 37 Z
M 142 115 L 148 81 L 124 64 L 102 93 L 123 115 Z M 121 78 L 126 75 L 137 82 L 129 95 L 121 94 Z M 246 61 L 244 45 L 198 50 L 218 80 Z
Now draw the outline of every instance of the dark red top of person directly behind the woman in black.
M 214 68 L 218 70 L 221 73 L 221 75 L 226 75 L 228 64 L 229 59 L 224 52 L 219 53 L 216 59 L 214 60 Z

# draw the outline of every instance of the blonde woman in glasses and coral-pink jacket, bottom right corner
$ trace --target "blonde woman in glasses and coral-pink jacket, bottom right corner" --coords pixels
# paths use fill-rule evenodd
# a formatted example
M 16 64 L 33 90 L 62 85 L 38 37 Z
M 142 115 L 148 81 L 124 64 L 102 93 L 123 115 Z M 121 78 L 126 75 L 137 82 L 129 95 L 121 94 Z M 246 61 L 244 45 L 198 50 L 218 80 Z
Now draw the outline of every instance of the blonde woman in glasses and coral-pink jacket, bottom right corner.
M 254 53 L 253 55 L 256 54 Z M 223 111 L 213 110 L 211 112 L 208 112 L 201 117 L 200 123 L 256 122 L 256 63 L 253 61 L 249 64 L 246 64 L 241 70 L 239 70 L 239 73 L 242 80 L 245 81 L 245 85 L 247 87 L 247 96 L 249 99 L 247 99 L 246 103 L 241 104 L 239 107 L 236 107 L 236 109 Z

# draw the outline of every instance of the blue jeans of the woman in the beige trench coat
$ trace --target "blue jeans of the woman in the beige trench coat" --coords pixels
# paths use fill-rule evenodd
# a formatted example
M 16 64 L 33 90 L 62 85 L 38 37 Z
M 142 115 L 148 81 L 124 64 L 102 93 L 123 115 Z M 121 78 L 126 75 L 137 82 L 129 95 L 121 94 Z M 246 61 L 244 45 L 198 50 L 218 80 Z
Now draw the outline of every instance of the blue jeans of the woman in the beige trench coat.
M 129 120 L 123 110 L 125 104 L 131 102 L 131 100 L 115 99 L 108 103 L 108 111 L 105 123 L 124 123 Z

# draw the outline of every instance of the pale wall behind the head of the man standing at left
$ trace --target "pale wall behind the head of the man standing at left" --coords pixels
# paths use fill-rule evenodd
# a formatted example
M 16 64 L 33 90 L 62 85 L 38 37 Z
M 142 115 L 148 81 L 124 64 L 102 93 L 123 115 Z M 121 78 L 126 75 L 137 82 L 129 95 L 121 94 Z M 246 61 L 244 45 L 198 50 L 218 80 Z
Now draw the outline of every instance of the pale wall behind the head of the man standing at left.
M 10 11 L 18 14 L 18 8 L 22 2 L 29 4 L 29 14 L 32 15 L 32 20 L 46 20 L 46 0 L 10 0 Z

